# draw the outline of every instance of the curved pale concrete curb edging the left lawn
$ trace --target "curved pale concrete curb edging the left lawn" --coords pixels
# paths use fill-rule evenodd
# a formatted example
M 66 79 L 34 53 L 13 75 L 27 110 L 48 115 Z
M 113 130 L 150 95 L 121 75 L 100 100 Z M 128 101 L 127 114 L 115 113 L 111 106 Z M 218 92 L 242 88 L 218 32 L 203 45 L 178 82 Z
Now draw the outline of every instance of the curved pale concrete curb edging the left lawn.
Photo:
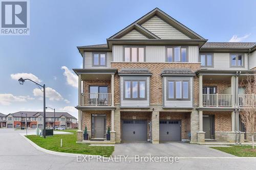
M 52 155 L 58 155 L 58 156 L 66 156 L 66 157 L 73 157 L 76 158 L 77 156 L 90 156 L 92 158 L 103 158 L 103 156 L 100 155 L 84 155 L 84 154 L 72 154 L 72 153 L 64 153 L 64 152 L 56 152 L 56 151 L 50 151 L 44 148 L 39 147 L 37 144 L 35 144 L 33 141 L 31 141 L 30 139 L 28 139 L 26 136 L 20 134 L 20 136 L 24 137 L 35 149 L 37 149 L 38 151 L 47 153 L 47 154 L 52 154 Z

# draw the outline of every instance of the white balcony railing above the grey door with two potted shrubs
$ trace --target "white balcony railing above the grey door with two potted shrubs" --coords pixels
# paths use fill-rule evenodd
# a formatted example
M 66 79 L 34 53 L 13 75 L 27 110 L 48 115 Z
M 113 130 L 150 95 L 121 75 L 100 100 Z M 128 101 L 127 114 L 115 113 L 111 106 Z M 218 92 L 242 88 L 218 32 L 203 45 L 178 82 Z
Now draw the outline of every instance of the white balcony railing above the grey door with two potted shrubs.
M 82 106 L 111 106 L 111 93 L 81 93 Z

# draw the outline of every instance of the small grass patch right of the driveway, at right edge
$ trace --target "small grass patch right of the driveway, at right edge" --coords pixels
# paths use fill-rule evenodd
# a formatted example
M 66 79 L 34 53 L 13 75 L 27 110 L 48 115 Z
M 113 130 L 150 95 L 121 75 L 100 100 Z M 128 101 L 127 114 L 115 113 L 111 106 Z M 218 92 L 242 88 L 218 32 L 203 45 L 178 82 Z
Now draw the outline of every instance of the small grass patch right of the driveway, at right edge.
M 252 150 L 249 145 L 237 145 L 233 147 L 210 147 L 222 152 L 239 157 L 256 157 L 256 149 Z

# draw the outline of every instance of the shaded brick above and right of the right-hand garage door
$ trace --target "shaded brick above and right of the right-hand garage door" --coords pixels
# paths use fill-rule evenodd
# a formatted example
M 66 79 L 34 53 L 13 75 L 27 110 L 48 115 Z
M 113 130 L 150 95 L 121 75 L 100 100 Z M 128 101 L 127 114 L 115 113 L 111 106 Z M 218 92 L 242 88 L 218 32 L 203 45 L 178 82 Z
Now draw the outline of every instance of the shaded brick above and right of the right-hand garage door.
M 181 120 L 181 139 L 188 139 L 190 112 L 160 112 L 159 120 Z

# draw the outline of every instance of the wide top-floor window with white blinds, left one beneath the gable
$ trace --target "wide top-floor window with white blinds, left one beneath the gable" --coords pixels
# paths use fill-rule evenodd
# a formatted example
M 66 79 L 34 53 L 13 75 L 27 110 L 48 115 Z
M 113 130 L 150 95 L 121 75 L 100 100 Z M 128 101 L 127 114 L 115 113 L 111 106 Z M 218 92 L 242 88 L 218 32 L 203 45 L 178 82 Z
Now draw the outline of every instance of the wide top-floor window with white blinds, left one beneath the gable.
M 143 46 L 125 46 L 124 47 L 125 62 L 144 62 L 145 48 Z

